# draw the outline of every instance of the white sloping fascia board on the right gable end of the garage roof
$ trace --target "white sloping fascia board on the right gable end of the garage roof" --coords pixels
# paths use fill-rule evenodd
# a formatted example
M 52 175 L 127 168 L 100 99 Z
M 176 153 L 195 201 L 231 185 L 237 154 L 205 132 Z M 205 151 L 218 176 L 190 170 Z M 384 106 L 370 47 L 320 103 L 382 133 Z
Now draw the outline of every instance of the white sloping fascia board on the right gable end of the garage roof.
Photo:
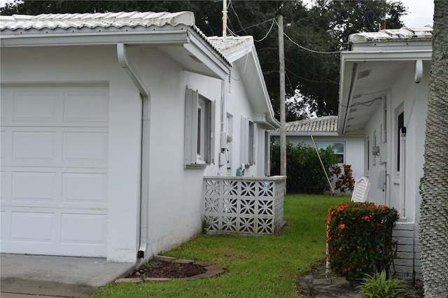
M 186 48 L 195 59 L 205 64 L 211 71 L 216 73 L 217 78 L 225 80 L 230 73 L 231 66 L 217 55 L 214 55 L 214 53 L 196 38 L 196 36 L 190 34 L 189 37 L 190 42 L 185 43 L 183 48 Z

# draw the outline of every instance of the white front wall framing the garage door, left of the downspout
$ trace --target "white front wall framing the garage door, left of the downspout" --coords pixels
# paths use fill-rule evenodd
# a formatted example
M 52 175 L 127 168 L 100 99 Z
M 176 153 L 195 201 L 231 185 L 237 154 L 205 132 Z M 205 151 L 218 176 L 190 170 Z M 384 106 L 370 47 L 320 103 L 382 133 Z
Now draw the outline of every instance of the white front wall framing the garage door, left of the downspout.
M 134 262 L 140 193 L 141 101 L 118 65 L 116 48 L 2 48 L 1 74 L 1 83 L 109 83 L 107 257 Z

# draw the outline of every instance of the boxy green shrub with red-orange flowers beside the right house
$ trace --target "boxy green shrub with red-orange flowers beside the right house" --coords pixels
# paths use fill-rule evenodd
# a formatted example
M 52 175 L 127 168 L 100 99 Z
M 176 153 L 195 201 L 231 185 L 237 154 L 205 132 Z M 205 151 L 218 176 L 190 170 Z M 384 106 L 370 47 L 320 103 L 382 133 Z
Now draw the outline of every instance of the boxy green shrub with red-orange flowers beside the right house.
M 331 270 L 350 282 L 365 274 L 388 273 L 396 257 L 392 229 L 398 217 L 395 208 L 370 202 L 330 207 L 325 224 Z

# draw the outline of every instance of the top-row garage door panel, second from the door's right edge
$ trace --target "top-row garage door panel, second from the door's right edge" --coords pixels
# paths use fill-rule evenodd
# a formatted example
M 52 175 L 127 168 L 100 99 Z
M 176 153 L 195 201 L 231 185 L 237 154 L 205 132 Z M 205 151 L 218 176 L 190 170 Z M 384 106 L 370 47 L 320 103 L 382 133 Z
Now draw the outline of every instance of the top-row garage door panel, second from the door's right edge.
M 57 92 L 14 92 L 13 122 L 24 121 L 57 122 Z

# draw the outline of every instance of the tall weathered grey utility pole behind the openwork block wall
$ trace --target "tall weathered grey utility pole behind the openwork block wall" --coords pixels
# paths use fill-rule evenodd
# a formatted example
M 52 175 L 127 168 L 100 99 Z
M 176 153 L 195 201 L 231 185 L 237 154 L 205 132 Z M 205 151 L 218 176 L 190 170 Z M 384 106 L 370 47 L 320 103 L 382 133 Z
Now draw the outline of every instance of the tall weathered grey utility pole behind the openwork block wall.
M 280 175 L 286 176 L 286 108 L 285 108 L 285 47 L 283 45 L 283 15 L 277 15 L 279 26 L 279 62 L 280 62 Z

